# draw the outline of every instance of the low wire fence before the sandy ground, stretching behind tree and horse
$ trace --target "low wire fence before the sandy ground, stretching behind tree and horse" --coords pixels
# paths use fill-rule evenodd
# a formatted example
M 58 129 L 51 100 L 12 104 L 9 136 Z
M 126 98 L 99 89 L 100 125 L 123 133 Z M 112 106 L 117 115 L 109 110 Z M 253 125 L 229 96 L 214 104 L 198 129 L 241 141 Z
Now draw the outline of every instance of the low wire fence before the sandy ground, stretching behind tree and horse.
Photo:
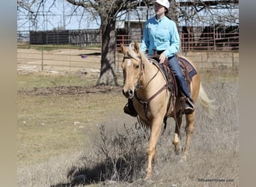
M 190 51 L 183 55 L 195 62 L 200 70 L 238 70 L 237 51 Z M 121 73 L 124 55 L 116 52 L 115 70 Z M 100 48 L 67 46 L 18 46 L 17 70 L 19 72 L 100 73 Z

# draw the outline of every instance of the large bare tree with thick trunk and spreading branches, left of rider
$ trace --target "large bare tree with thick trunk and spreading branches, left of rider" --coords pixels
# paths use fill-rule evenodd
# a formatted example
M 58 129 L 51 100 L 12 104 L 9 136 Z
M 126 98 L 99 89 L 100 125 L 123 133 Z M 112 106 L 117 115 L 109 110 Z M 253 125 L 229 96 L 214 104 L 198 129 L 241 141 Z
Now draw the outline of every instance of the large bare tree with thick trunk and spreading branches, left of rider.
M 138 3 L 136 0 L 66 0 L 75 7 L 84 7 L 90 12 L 97 12 L 100 17 L 100 31 L 102 35 L 101 49 L 101 69 L 100 78 L 97 85 L 118 85 L 115 73 L 115 42 L 116 29 L 115 23 L 118 13 L 127 9 L 132 9 Z M 27 10 L 34 18 L 46 0 L 18 0 L 18 10 Z M 56 0 L 51 2 L 56 3 Z M 31 9 L 31 5 L 37 7 L 36 13 Z

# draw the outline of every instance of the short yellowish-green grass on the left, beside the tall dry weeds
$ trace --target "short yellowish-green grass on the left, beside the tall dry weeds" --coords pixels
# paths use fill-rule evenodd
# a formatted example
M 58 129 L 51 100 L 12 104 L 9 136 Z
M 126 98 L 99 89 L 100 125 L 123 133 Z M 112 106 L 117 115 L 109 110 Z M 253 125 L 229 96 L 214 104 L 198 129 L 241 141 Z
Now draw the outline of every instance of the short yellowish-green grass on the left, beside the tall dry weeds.
M 18 142 L 22 143 L 18 144 L 18 165 L 43 162 L 70 148 L 78 150 L 90 140 L 90 133 L 95 133 L 95 123 L 100 123 L 115 109 L 113 106 L 108 110 L 102 108 L 112 101 L 109 95 L 101 93 L 19 95 L 18 100 Z M 119 100 L 124 102 L 121 96 Z

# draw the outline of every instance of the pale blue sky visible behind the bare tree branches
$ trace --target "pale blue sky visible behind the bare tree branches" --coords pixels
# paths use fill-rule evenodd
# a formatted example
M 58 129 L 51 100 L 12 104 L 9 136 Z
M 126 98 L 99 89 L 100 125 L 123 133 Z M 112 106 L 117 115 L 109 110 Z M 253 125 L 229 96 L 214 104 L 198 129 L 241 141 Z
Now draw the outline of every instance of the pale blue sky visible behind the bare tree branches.
M 184 1 L 184 0 L 180 0 Z M 186 0 L 187 1 L 187 0 Z M 47 1 L 46 1 L 47 2 Z M 56 28 L 65 28 L 67 30 L 76 30 L 76 29 L 94 29 L 94 28 L 100 28 L 99 20 L 100 19 L 91 19 L 91 13 L 85 12 L 84 8 L 78 7 L 76 16 L 70 16 L 70 3 L 68 3 L 65 0 L 57 0 L 57 4 L 55 7 L 52 7 L 52 13 L 43 14 L 41 13 L 38 16 L 38 22 L 37 25 L 33 25 L 31 21 L 28 21 L 28 16 L 22 15 L 22 13 L 18 13 L 17 15 L 17 30 L 18 31 L 48 31 Z M 49 4 L 46 4 L 45 10 L 47 10 L 47 6 Z M 72 6 L 72 5 L 71 5 Z M 147 19 L 145 16 L 146 13 L 143 12 L 138 7 L 138 11 L 141 19 Z M 222 10 L 217 10 L 219 13 L 222 13 Z M 204 12 L 202 12 L 204 13 Z M 218 13 L 218 14 L 219 14 Z M 149 10 L 149 17 L 154 15 L 153 7 Z M 207 14 L 207 13 L 204 13 Z M 138 17 L 136 16 L 136 13 L 130 13 L 129 19 L 135 20 Z M 121 19 L 128 19 L 128 15 L 124 15 L 121 17 Z M 212 22 L 215 20 L 207 20 L 207 22 Z M 201 21 L 198 21 L 201 22 Z M 180 22 L 180 25 L 187 25 L 188 22 Z M 195 24 L 195 22 L 194 22 Z M 200 24 L 200 23 L 196 23 Z M 202 23 L 201 23 L 202 24 Z

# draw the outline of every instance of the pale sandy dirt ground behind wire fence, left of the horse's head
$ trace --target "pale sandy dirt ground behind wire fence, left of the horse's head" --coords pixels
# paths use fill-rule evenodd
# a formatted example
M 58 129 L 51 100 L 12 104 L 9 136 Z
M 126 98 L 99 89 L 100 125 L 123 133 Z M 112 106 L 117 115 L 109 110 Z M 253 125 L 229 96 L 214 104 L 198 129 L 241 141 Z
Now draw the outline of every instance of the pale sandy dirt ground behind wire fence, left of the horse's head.
M 122 55 L 116 55 L 120 70 Z M 91 49 L 17 49 L 17 70 L 47 73 L 100 73 L 100 48 Z

